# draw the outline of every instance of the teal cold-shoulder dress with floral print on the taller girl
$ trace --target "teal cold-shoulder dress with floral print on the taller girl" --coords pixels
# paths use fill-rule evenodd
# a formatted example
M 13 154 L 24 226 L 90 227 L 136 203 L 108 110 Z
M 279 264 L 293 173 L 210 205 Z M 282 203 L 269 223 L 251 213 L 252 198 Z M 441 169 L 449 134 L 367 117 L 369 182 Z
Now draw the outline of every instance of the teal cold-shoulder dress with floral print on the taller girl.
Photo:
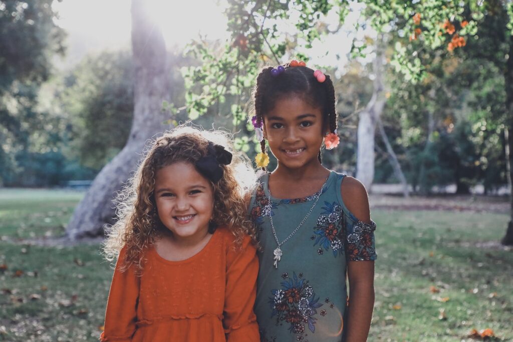
M 347 306 L 347 261 L 375 260 L 376 224 L 358 220 L 344 205 L 340 187 L 345 175 L 331 171 L 319 201 L 303 226 L 281 246 L 274 268 L 273 251 L 301 223 L 315 195 L 295 199 L 271 197 L 269 174 L 251 197 L 249 214 L 259 232 L 255 313 L 262 341 L 340 341 Z M 347 198 L 346 200 L 350 200 Z

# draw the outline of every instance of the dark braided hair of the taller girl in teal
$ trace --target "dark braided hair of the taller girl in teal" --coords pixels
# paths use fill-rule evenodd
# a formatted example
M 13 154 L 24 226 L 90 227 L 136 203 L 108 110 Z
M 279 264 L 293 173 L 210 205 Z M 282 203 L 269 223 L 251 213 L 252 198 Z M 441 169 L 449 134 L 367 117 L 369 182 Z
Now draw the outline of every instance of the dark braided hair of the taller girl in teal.
M 335 109 L 335 89 L 329 75 L 325 75 L 326 81 L 320 83 L 308 67 L 291 67 L 290 62 L 283 67 L 285 71 L 278 76 L 272 76 L 273 67 L 263 68 L 257 76 L 252 96 L 258 122 L 264 123 L 264 114 L 272 110 L 278 100 L 296 94 L 301 95 L 309 105 L 321 108 L 324 127 L 327 125 L 330 133 L 335 133 L 338 114 Z M 262 153 L 266 153 L 265 139 L 260 142 L 260 148 Z M 318 158 L 322 163 L 321 151 Z M 265 171 L 265 167 L 262 170 Z

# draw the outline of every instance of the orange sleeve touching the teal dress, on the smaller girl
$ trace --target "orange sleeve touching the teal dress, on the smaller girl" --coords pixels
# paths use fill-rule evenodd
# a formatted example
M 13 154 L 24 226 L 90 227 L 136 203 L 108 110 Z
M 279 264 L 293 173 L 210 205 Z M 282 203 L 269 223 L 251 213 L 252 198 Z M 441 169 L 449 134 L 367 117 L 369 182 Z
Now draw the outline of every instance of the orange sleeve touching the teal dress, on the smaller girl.
M 257 317 L 253 312 L 257 295 L 258 257 L 251 238 L 242 249 L 227 245 L 226 293 L 223 326 L 227 342 L 259 342 Z

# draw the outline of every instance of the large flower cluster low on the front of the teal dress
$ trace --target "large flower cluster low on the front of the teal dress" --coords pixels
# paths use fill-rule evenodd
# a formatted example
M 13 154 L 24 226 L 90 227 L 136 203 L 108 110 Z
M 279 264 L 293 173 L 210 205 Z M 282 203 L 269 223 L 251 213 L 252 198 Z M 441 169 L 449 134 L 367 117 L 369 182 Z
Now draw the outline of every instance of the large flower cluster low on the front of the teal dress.
M 290 325 L 289 332 L 298 334 L 298 338 L 303 337 L 305 325 L 312 333 L 315 332 L 317 318 L 314 316 L 322 304 L 319 303 L 319 297 L 315 297 L 315 292 L 308 285 L 308 281 L 298 278 L 294 272 L 291 278 L 281 283 L 281 286 L 281 289 L 271 290 L 271 317 L 277 316 L 277 324 L 286 321 Z

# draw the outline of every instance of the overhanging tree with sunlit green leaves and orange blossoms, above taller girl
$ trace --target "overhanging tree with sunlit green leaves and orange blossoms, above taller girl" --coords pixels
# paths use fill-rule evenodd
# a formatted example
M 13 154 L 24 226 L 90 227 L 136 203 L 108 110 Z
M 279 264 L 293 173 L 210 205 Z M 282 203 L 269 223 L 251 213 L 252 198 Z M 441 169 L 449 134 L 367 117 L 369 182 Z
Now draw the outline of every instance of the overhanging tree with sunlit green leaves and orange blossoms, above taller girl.
M 416 84 L 426 76 L 426 68 L 435 58 L 445 58 L 465 46 L 469 36 L 476 36 L 478 25 L 486 15 L 506 13 L 505 26 L 501 28 L 507 41 L 513 41 L 513 3 L 509 0 L 446 2 L 403 2 L 382 0 L 361 0 L 350 3 L 346 0 L 322 1 L 229 1 L 227 14 L 228 28 L 232 40 L 225 46 L 222 54 L 216 54 L 205 44 L 196 44 L 192 51 L 201 56 L 204 65 L 194 67 L 186 74 L 187 108 L 191 116 L 197 117 L 206 112 L 214 103 L 224 102 L 226 94 L 239 96 L 241 103 L 233 108 L 236 119 L 247 116 L 244 111 L 245 89 L 249 87 L 258 68 L 264 63 L 279 64 L 282 58 L 291 55 L 306 59 L 304 50 L 298 45 L 311 47 L 315 39 L 328 32 L 321 17 L 331 9 L 338 11 L 343 23 L 354 4 L 365 6 L 362 14 L 375 30 L 393 35 L 396 42 L 390 65 L 400 72 L 405 81 Z M 297 34 L 283 31 L 285 18 L 297 18 Z M 357 26 L 360 22 L 357 22 Z M 358 27 L 356 28 L 356 30 Z M 356 35 L 355 35 L 356 37 Z M 364 44 L 352 44 L 352 52 L 359 53 Z M 356 44 L 358 43 L 358 44 Z M 506 85 L 506 113 L 504 134 L 506 146 L 511 147 L 511 123 L 513 123 L 513 44 L 504 58 L 504 77 Z M 272 59 L 272 62 L 271 62 Z M 195 85 L 204 86 L 197 91 Z M 201 87 L 200 87 L 201 89 Z M 247 106 L 246 106 L 247 107 Z M 368 120 L 372 122 L 372 120 Z M 433 126 L 431 126 L 433 128 Z M 428 134 L 430 137 L 431 134 Z M 430 142 L 425 152 L 430 148 Z M 511 148 L 506 150 L 506 160 L 511 165 Z M 372 151 L 373 152 L 373 151 Z M 425 168 L 425 167 L 424 167 Z M 421 169 L 422 170 L 422 169 Z M 513 170 L 509 167 L 509 179 Z M 424 171 L 422 171 L 424 172 Z M 510 187 L 511 188 L 511 187 Z M 513 193 L 511 194 L 511 220 L 505 244 L 513 244 Z

